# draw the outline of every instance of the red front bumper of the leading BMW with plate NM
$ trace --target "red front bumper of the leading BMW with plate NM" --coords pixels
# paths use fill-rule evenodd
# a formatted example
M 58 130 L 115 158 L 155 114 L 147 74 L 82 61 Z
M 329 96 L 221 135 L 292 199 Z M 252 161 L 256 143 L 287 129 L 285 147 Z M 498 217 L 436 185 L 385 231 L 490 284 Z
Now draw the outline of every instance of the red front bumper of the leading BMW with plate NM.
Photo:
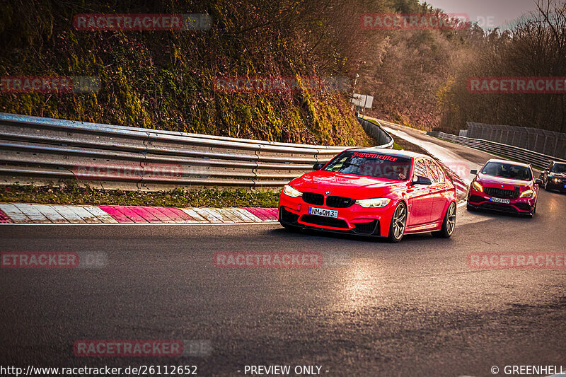
M 334 208 L 325 204 L 308 204 L 302 197 L 293 198 L 282 193 L 279 198 L 279 222 L 322 231 L 386 237 L 395 205 L 391 201 L 382 208 L 364 208 L 358 204 L 347 208 Z M 338 211 L 338 217 L 334 219 L 308 214 L 308 207 L 333 209 Z

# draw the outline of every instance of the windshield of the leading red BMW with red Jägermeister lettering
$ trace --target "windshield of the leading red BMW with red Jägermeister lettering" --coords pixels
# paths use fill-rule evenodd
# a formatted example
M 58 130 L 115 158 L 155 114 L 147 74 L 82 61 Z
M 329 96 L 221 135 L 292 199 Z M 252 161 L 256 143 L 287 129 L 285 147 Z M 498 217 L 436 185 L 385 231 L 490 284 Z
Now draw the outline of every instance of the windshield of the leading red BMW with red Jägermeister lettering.
M 366 177 L 407 180 L 411 159 L 382 153 L 343 152 L 333 158 L 323 170 Z

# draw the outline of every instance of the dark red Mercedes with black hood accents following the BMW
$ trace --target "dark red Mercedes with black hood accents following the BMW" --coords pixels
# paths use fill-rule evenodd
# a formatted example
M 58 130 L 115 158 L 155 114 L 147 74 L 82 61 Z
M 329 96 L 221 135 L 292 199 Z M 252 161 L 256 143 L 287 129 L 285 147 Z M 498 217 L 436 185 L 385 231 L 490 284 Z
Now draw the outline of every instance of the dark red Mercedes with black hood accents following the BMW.
M 533 169 L 525 163 L 498 160 L 487 161 L 473 179 L 468 191 L 468 210 L 490 209 L 492 211 L 534 216 L 538 186 Z

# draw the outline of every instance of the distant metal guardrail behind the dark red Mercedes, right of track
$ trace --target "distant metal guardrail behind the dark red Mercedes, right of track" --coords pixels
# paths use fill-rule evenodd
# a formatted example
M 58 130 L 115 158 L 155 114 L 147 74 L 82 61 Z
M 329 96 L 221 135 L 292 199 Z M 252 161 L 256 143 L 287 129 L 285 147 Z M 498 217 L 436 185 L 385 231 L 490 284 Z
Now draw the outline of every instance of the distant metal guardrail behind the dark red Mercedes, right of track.
M 456 136 L 453 134 L 445 134 L 444 132 L 437 131 L 429 131 L 427 132 L 427 135 L 439 137 L 440 139 L 452 141 L 457 144 L 470 146 L 475 149 L 480 149 L 481 151 L 495 153 L 507 158 L 513 158 L 516 161 L 520 161 L 522 163 L 530 163 L 533 166 L 538 166 L 541 168 L 545 167 L 550 161 L 566 162 L 566 160 L 561 160 L 560 158 L 548 156 L 543 153 L 529 151 L 527 149 L 519 148 L 518 146 L 496 143 L 495 141 L 472 139 L 470 137 Z

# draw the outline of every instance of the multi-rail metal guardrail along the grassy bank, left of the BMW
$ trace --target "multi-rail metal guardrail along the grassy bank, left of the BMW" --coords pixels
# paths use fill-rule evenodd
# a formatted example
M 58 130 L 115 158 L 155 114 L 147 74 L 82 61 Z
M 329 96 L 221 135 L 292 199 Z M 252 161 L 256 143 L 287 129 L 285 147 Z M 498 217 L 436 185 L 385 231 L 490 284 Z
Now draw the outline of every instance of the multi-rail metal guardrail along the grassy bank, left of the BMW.
M 0 113 L 4 185 L 77 180 L 151 191 L 281 187 L 344 149 Z

